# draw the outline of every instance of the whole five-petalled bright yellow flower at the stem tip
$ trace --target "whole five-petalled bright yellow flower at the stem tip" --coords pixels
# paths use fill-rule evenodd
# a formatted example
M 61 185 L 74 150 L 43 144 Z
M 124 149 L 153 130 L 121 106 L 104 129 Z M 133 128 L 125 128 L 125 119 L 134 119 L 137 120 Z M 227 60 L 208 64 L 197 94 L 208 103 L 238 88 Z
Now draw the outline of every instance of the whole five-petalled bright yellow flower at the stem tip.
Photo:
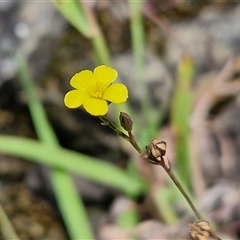
M 117 78 L 115 69 L 98 66 L 94 71 L 83 70 L 76 73 L 70 80 L 74 90 L 64 98 L 68 108 L 83 105 L 85 110 L 94 116 L 103 116 L 108 112 L 108 103 L 123 103 L 128 98 L 127 87 L 121 83 L 112 84 Z

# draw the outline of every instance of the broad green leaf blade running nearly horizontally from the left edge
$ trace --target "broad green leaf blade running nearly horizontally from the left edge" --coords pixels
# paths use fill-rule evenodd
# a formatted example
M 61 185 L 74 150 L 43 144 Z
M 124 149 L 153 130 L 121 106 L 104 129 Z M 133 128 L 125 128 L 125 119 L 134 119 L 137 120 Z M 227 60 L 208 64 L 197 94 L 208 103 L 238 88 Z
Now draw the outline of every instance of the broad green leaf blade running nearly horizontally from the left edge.
M 76 173 L 118 188 L 133 197 L 146 191 L 143 182 L 114 165 L 60 147 L 53 148 L 36 140 L 0 135 L 0 152 Z

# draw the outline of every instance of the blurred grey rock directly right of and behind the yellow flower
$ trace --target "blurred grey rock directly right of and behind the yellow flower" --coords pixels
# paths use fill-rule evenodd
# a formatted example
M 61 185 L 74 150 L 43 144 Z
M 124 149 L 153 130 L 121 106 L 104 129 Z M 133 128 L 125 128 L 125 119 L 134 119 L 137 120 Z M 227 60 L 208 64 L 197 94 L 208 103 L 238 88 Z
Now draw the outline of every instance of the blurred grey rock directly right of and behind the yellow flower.
M 145 101 L 149 98 L 151 106 L 160 111 L 169 104 L 173 81 L 160 58 L 146 51 L 144 60 L 142 79 L 138 79 L 132 52 L 115 57 L 113 65 L 119 72 L 120 80 L 129 88 L 129 99 L 135 109 L 140 110 L 141 98 Z

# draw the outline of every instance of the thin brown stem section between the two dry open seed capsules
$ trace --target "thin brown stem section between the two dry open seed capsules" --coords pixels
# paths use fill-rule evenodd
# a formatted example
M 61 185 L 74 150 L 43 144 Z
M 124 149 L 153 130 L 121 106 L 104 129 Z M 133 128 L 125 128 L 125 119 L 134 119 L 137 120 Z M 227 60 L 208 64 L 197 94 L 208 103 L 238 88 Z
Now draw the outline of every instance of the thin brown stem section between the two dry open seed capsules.
M 164 161 L 163 161 L 164 162 Z M 188 197 L 188 194 L 185 192 L 185 190 L 183 189 L 181 183 L 177 180 L 177 178 L 175 177 L 175 175 L 173 174 L 173 172 L 171 171 L 171 168 L 167 167 L 165 165 L 165 163 L 161 164 L 161 166 L 164 168 L 164 170 L 167 172 L 168 176 L 172 179 L 172 181 L 174 182 L 174 184 L 176 185 L 176 187 L 179 189 L 179 191 L 182 193 L 182 195 L 184 196 L 184 198 L 186 199 L 187 203 L 189 204 L 189 206 L 191 207 L 191 209 L 193 210 L 194 214 L 196 215 L 196 217 L 198 218 L 198 220 L 203 219 L 201 214 L 197 211 L 197 209 L 195 208 L 195 206 L 193 205 L 191 199 Z

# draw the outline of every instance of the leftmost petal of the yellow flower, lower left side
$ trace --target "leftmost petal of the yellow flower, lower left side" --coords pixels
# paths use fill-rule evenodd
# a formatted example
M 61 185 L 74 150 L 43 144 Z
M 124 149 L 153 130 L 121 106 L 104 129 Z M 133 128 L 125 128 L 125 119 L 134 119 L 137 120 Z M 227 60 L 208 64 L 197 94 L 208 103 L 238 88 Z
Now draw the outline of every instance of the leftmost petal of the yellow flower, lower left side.
M 83 104 L 85 97 L 84 91 L 72 90 L 65 95 L 64 104 L 68 108 L 77 108 Z

